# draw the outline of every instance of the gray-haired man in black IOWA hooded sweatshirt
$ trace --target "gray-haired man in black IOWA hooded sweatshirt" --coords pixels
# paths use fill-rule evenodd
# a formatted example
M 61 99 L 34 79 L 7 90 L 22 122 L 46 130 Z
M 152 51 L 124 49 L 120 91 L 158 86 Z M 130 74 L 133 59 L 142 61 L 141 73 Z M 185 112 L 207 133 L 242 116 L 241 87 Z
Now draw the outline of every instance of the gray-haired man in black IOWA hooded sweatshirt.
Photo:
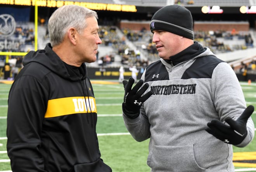
M 64 5 L 48 21 L 50 43 L 30 51 L 9 93 L 12 171 L 111 172 L 100 158 L 97 110 L 85 62 L 95 62 L 97 13 Z

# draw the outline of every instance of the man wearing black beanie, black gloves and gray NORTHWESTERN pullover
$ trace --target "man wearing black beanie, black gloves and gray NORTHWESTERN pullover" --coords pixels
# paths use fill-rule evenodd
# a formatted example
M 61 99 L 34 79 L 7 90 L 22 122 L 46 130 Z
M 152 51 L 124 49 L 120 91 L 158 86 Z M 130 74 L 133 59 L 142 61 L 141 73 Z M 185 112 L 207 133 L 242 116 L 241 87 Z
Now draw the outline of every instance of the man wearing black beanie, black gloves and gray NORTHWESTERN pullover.
M 150 29 L 160 59 L 141 80 L 123 81 L 123 118 L 133 138 L 150 138 L 152 172 L 234 172 L 232 145 L 254 137 L 251 114 L 232 68 L 194 42 L 189 10 L 169 5 Z M 140 88 L 140 89 L 139 89 Z

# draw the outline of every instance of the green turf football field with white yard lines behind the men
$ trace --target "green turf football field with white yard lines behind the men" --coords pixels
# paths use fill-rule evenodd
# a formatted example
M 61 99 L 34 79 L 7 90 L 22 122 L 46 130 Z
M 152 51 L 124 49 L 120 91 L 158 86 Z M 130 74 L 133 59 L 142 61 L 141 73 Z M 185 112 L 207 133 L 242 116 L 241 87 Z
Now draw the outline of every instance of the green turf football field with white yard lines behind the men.
M 123 85 L 97 81 L 92 83 L 98 111 L 97 133 L 102 159 L 112 167 L 113 172 L 150 172 L 147 166 L 149 140 L 144 142 L 133 140 L 121 116 Z M 6 151 L 7 99 L 10 86 L 0 83 L 0 172 L 10 170 L 10 160 Z M 241 83 L 241 86 L 247 105 L 256 107 L 256 83 L 251 85 Z M 255 111 L 252 117 L 256 126 Z M 245 148 L 234 147 L 235 157 L 250 160 L 250 163 L 236 163 L 235 171 L 256 172 L 256 137 Z

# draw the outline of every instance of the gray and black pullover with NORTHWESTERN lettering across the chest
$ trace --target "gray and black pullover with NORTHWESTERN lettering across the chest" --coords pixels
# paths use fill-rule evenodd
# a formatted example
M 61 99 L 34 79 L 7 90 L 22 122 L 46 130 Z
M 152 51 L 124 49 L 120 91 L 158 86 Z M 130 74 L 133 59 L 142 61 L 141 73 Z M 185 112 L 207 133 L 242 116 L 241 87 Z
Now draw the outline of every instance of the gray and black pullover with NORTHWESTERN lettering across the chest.
M 146 67 L 142 79 L 153 92 L 138 118 L 123 114 L 126 128 L 142 142 L 150 138 L 152 172 L 233 172 L 232 145 L 207 133 L 207 123 L 237 119 L 246 102 L 232 68 L 197 42 Z M 146 92 L 147 92 L 146 91 Z M 254 137 L 247 122 L 245 147 Z

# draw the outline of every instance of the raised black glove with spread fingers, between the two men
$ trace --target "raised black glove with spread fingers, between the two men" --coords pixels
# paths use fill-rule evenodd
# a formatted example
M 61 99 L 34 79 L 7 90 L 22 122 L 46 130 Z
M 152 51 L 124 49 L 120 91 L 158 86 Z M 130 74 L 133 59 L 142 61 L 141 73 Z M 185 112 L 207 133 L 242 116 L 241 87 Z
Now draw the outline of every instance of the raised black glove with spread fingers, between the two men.
M 129 118 L 137 118 L 140 115 L 140 107 L 142 106 L 142 103 L 152 95 L 152 91 L 149 91 L 142 96 L 147 88 L 149 88 L 148 83 L 145 83 L 144 86 L 142 86 L 144 83 L 142 79 L 140 79 L 140 81 L 138 81 L 138 83 L 131 89 L 133 83 L 133 78 L 129 78 L 129 81 L 123 81 L 125 96 L 122 108 L 125 115 Z M 140 88 L 141 86 L 142 88 Z M 138 90 L 139 88 L 140 90 Z

